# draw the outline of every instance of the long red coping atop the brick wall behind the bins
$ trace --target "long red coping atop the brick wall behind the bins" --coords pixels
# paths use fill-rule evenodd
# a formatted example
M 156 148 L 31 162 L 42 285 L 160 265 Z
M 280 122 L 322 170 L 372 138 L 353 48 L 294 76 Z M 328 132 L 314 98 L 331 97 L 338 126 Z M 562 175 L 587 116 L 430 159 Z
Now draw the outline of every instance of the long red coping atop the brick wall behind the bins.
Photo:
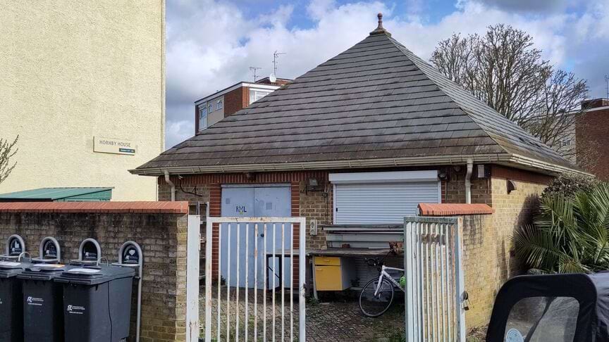
M 188 202 L 6 202 L 0 213 L 168 213 L 187 214 Z

